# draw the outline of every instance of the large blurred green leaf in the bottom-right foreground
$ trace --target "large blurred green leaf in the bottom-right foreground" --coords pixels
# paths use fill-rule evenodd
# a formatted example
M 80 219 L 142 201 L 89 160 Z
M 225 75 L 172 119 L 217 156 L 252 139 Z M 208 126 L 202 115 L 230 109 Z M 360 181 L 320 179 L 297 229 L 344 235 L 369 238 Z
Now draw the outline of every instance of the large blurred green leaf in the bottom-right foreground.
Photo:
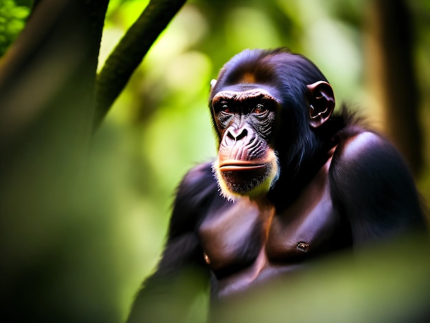
M 409 236 L 326 259 L 234 300 L 214 322 L 428 322 L 429 247 Z

